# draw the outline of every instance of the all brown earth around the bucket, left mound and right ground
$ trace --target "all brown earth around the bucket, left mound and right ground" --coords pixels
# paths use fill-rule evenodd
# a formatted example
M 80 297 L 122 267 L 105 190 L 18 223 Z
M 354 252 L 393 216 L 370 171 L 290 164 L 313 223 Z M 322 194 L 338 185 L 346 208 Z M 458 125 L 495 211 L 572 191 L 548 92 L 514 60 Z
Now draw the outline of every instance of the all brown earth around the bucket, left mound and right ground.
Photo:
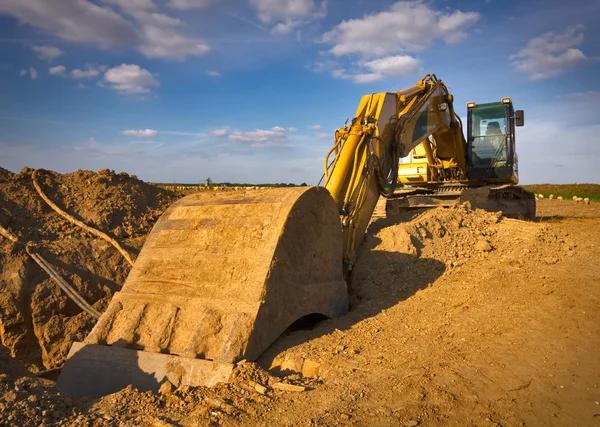
M 103 310 L 129 267 L 31 173 L 0 171 L 0 225 Z M 38 177 L 133 254 L 178 197 L 110 171 Z M 600 204 L 547 200 L 536 221 L 467 205 L 377 220 L 347 316 L 290 329 L 230 384 L 79 400 L 31 372 L 59 366 L 93 319 L 0 237 L 0 425 L 600 425 L 599 226 Z

